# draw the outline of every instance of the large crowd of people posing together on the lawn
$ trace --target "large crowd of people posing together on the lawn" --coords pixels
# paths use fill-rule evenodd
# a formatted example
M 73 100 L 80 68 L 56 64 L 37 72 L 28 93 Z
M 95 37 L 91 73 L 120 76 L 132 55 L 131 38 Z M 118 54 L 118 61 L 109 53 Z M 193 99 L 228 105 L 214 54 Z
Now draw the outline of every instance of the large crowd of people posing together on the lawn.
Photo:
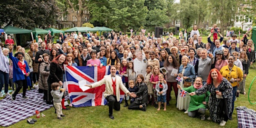
M 213 40 L 211 35 L 214 36 Z M 241 40 L 235 34 L 227 38 L 221 35 L 217 27 L 211 30 L 208 42 L 202 42 L 197 26 L 193 26 L 188 38 L 176 38 L 171 34 L 157 38 L 154 34 L 143 32 L 137 35 L 131 33 L 130 36 L 114 31 L 101 36 L 92 32 L 60 33 L 56 43 L 52 42 L 51 35 L 45 36 L 44 40 L 40 38 L 40 41 L 31 43 L 27 53 L 21 46 L 16 46 L 16 53 L 12 53 L 13 43 L 10 39 L 8 37 L 5 41 L 6 48 L 3 43 L 0 44 L 0 57 L 3 60 L 0 61 L 0 88 L 4 85 L 5 93 L 8 83 L 13 90 L 16 88 L 11 94 L 13 100 L 22 87 L 23 98 L 28 98 L 25 90 L 28 87 L 33 89 L 38 81 L 38 92 L 44 94 L 43 100 L 54 104 L 51 84 L 54 83 L 54 90 L 56 83 L 63 87 L 64 64 L 111 65 L 116 72 L 111 73 L 118 76 L 111 83 L 107 82 L 109 86 L 105 92 L 106 99 L 111 102 L 109 117 L 112 119 L 113 107 L 116 110 L 120 107 L 116 103 L 119 101 L 116 94 L 119 91 L 109 88 L 113 89 L 112 84 L 118 81 L 118 86 L 127 93 L 124 106 L 128 106 L 128 109 L 145 111 L 147 105 L 153 105 L 160 110 L 163 104 L 163 110 L 166 110 L 173 89 L 175 99 L 172 100 L 175 100 L 178 109 L 186 110 L 188 116 L 195 117 L 199 113 L 204 120 L 208 107 L 210 116 L 207 119 L 225 125 L 228 119 L 232 119 L 236 92 L 246 94 L 245 79 L 249 65 L 254 60 L 254 44 L 246 34 Z M 107 79 L 111 81 L 111 77 Z M 106 81 L 100 83 L 103 82 Z M 87 86 L 95 87 L 100 83 Z M 183 90 L 189 92 L 190 96 L 178 96 Z M 64 106 L 64 94 L 60 95 L 61 100 L 58 101 L 62 109 L 69 109 Z M 57 111 L 60 117 L 62 112 Z

